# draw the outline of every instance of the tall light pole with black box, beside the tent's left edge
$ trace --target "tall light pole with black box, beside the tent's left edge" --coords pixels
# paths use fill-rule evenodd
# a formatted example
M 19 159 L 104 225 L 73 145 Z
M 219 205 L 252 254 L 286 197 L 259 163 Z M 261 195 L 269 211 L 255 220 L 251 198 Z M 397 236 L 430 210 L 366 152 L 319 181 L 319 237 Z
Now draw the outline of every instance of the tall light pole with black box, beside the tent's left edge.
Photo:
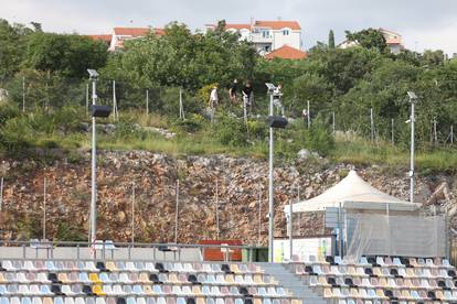
M 274 187 L 273 187 L 273 129 L 279 128 L 284 129 L 287 126 L 287 119 L 281 116 L 274 116 L 273 111 L 273 101 L 275 98 L 280 98 L 280 91 L 278 91 L 273 84 L 265 84 L 268 88 L 269 95 L 269 170 L 268 170 L 268 262 L 273 262 L 273 235 L 274 235 L 274 217 L 275 217 L 275 206 L 274 206 Z

